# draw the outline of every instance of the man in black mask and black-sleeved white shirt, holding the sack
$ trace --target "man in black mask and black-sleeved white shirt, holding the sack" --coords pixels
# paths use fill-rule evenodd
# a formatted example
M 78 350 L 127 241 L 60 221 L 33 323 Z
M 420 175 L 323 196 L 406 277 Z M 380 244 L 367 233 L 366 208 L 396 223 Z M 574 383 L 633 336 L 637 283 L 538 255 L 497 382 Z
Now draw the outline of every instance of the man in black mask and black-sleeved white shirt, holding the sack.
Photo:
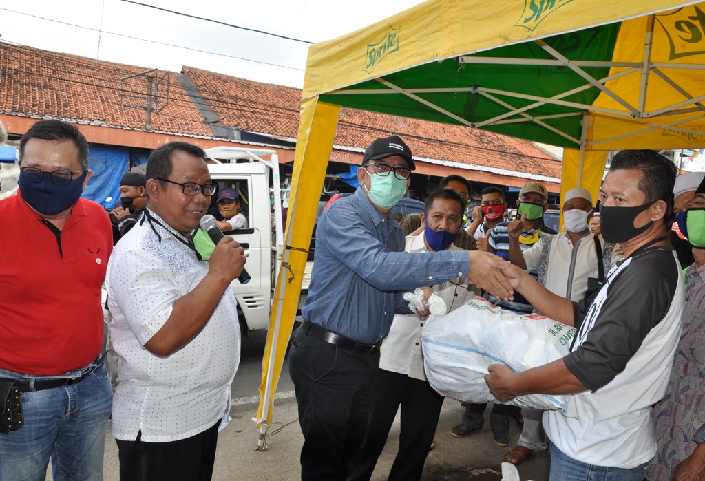
M 668 243 L 675 165 L 655 151 L 622 151 L 600 189 L 602 235 L 624 250 L 594 301 L 573 302 L 516 266 L 501 266 L 537 310 L 577 327 L 570 354 L 513 373 L 489 366 L 491 392 L 573 394 L 546 411 L 551 480 L 642 480 L 656 453 L 651 405 L 663 397 L 680 335 L 685 289 Z

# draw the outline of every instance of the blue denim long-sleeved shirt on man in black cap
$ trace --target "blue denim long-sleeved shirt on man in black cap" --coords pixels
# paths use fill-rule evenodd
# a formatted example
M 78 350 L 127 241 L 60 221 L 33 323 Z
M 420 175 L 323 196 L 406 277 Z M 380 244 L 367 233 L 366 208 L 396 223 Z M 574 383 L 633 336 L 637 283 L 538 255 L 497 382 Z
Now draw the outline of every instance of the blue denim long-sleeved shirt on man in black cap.
M 403 292 L 467 276 L 467 251 L 404 251 L 399 223 L 384 218 L 362 189 L 328 208 L 318 222 L 316 253 L 302 316 L 314 325 L 374 344 L 395 313 L 408 314 Z

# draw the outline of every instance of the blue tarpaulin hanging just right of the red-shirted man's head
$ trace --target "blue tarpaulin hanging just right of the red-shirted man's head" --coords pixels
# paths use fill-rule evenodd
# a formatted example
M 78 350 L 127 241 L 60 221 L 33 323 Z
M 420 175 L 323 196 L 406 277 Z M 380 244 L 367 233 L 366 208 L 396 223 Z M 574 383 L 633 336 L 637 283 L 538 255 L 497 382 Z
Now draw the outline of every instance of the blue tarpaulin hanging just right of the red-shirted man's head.
M 130 168 L 130 148 L 90 144 L 88 158 L 93 175 L 82 196 L 113 208 L 120 199 L 120 180 Z

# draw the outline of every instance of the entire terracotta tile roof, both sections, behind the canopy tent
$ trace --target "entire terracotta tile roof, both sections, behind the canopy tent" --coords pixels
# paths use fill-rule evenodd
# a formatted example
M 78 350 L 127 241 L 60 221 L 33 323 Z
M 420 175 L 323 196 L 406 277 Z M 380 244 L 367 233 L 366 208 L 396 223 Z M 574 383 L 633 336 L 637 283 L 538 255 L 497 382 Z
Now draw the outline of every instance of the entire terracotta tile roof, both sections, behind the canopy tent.
M 0 43 L 0 111 L 144 130 L 144 109 L 120 108 L 121 78 L 144 70 Z M 188 66 L 181 74 L 171 73 L 168 105 L 152 114 L 154 131 L 213 135 L 178 82 L 179 75 L 190 77 L 223 125 L 272 137 L 295 139 L 298 135 L 300 89 Z M 160 95 L 166 95 L 166 82 L 159 89 Z M 133 84 L 133 92 L 145 91 L 144 84 Z M 146 96 L 130 94 L 123 85 L 123 101 L 138 104 L 145 100 Z M 343 108 L 335 143 L 362 151 L 377 137 L 391 134 L 403 137 L 414 155 L 422 158 L 560 178 L 560 161 L 531 142 L 460 125 Z

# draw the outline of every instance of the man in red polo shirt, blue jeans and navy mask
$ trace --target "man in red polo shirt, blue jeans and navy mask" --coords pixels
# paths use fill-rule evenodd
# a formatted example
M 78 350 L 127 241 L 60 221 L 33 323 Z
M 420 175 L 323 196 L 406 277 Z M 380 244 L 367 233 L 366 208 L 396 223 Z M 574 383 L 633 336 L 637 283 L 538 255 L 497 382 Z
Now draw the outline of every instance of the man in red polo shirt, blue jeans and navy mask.
M 80 198 L 91 171 L 76 127 L 41 120 L 19 154 L 19 192 L 0 201 L 0 387 L 17 382 L 24 423 L 0 430 L 0 481 L 43 480 L 50 457 L 54 480 L 102 480 L 110 220 Z

